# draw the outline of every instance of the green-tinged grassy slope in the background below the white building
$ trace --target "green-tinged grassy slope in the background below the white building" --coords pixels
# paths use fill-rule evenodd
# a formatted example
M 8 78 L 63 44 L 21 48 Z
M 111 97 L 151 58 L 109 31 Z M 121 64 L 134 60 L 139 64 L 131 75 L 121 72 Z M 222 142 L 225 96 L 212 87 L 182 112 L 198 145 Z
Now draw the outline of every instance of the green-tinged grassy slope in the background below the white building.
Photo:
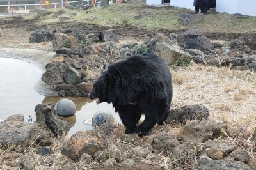
M 57 12 L 60 8 L 53 9 Z M 234 33 L 234 34 L 254 34 L 256 33 L 256 17 L 247 19 L 231 19 L 232 15 L 227 13 L 208 12 L 205 20 L 193 26 L 182 26 L 177 19 L 180 13 L 193 13 L 191 10 L 176 7 L 154 8 L 144 3 L 118 3 L 111 4 L 108 8 L 93 8 L 87 11 L 78 12 L 77 10 L 65 10 L 65 13 L 77 13 L 76 16 L 70 17 L 67 22 L 82 22 L 91 24 L 100 24 L 104 26 L 120 25 L 123 20 L 128 20 L 127 24 L 147 28 L 147 29 L 169 29 L 179 31 L 184 29 L 199 29 L 204 33 Z M 133 20 L 136 12 L 150 12 L 148 17 L 140 20 Z M 53 13 L 52 13 L 53 15 Z M 30 16 L 31 17 L 31 16 Z M 50 16 L 45 17 L 42 23 L 58 22 L 58 19 L 52 19 Z M 63 22 L 63 21 L 61 21 Z

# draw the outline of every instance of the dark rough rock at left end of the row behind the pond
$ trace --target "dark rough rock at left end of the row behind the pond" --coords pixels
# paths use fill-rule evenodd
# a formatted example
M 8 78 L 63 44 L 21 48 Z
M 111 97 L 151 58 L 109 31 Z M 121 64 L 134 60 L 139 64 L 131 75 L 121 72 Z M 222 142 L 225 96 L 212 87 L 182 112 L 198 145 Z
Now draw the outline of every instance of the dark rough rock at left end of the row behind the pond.
M 52 41 L 53 37 L 53 30 L 37 29 L 29 37 L 29 43 Z

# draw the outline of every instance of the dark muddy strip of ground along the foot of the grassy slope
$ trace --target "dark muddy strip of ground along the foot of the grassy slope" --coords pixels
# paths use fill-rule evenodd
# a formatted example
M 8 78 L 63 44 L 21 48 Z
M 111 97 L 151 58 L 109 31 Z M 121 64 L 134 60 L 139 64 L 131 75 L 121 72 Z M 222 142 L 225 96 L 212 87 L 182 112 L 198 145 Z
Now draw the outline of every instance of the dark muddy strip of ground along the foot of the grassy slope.
M 87 29 L 90 33 L 102 31 L 108 29 L 107 26 L 100 26 L 97 24 L 88 24 L 88 23 L 75 23 L 74 22 L 55 22 L 54 24 L 41 24 L 38 22 L 40 17 L 35 17 L 34 19 L 24 19 L 21 15 L 9 17 L 8 20 L 0 18 L 1 28 L 2 29 L 19 29 L 20 31 L 35 31 L 36 29 L 45 29 L 50 27 L 61 27 L 62 29 L 67 29 L 70 27 L 76 27 L 80 29 Z M 164 36 L 170 33 L 180 33 L 184 32 L 188 29 L 182 30 L 169 30 L 169 29 L 158 29 L 158 30 L 150 30 L 141 27 L 131 26 L 129 24 L 123 24 L 120 26 L 115 26 L 116 33 L 120 38 L 124 37 L 134 37 L 134 38 L 152 38 L 156 36 L 157 33 L 163 33 Z M 234 34 L 234 33 L 204 33 L 207 38 L 210 40 L 225 40 L 230 41 L 234 39 L 244 40 L 247 36 L 251 36 L 252 34 Z

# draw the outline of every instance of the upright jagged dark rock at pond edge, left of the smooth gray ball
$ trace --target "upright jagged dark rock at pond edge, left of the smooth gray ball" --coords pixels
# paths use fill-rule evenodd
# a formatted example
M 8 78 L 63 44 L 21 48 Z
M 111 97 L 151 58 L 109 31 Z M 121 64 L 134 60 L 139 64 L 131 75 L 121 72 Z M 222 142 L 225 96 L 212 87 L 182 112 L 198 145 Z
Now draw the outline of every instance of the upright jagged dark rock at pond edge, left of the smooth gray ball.
M 42 123 L 56 135 L 63 135 L 63 132 L 68 132 L 71 128 L 63 118 L 58 119 L 57 111 L 52 103 L 38 104 L 35 107 L 36 123 Z

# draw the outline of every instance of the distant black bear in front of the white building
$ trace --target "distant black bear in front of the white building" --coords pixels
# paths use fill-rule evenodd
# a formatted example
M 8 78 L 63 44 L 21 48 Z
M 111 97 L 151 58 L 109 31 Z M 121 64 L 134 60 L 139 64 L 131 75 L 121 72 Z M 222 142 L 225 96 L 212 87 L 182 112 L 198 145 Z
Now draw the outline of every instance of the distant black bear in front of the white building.
M 199 9 L 202 13 L 206 13 L 210 8 L 216 7 L 216 0 L 194 0 L 193 5 L 195 6 L 196 13 L 199 12 Z

